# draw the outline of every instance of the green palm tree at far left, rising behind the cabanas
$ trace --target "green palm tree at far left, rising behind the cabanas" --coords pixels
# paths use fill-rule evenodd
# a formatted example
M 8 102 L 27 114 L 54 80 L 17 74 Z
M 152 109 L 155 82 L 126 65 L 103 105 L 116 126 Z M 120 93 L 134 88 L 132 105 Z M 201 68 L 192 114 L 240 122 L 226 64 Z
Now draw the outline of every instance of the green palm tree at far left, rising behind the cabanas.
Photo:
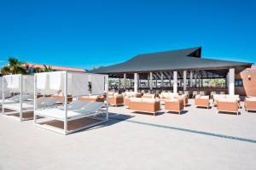
M 9 58 L 9 65 L 3 66 L 2 74 L 27 74 L 26 69 L 22 67 L 22 62 L 16 58 Z

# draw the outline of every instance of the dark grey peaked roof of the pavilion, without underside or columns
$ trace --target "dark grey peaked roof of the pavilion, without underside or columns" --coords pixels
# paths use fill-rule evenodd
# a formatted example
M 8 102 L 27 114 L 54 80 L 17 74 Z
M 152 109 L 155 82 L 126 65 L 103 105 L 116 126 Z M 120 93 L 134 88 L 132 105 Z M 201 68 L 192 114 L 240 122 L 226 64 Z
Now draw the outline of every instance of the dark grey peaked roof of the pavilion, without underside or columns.
M 94 73 L 122 73 L 146 71 L 177 71 L 199 69 L 221 69 L 230 67 L 250 67 L 252 63 L 236 62 L 220 59 L 201 58 L 201 47 L 185 48 L 137 56 L 117 65 L 101 67 L 90 72 Z M 241 70 L 243 70 L 241 69 Z

